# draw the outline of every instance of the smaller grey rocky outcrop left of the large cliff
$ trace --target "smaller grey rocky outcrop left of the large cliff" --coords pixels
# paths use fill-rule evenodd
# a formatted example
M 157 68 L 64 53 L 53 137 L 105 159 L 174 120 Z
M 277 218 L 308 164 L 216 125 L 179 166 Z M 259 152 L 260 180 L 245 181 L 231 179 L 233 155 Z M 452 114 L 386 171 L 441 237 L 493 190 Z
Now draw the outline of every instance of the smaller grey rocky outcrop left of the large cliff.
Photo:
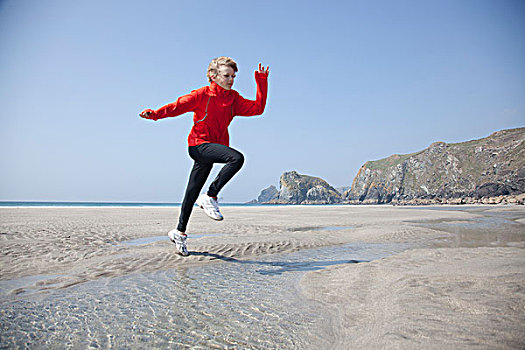
M 278 191 L 275 186 L 270 186 L 261 192 L 256 202 L 272 204 L 335 204 L 341 203 L 341 201 L 341 194 L 325 180 L 290 171 L 281 175 Z

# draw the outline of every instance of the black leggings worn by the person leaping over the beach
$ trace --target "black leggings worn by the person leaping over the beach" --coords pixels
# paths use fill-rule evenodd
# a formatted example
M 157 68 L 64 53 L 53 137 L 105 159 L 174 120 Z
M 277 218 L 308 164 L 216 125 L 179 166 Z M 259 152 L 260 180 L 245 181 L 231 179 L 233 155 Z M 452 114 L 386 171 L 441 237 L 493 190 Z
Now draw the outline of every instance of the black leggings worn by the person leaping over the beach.
M 186 225 L 188 225 L 193 205 L 210 175 L 213 163 L 226 163 L 226 165 L 222 167 L 210 185 L 208 189 L 208 196 L 210 197 L 217 197 L 219 191 L 241 169 L 244 163 L 244 156 L 241 152 L 218 143 L 190 146 L 188 152 L 195 163 L 191 169 L 188 187 L 186 187 L 186 194 L 180 210 L 177 229 L 181 232 L 186 232 Z

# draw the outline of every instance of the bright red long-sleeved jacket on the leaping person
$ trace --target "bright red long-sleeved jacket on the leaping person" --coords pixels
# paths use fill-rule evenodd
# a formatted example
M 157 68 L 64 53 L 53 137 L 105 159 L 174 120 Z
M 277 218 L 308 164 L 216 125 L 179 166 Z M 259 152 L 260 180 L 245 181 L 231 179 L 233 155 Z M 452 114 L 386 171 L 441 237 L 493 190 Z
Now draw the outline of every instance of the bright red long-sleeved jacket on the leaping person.
M 264 112 L 268 92 L 268 75 L 255 72 L 257 95 L 255 101 L 243 98 L 235 90 L 226 90 L 212 82 L 181 96 L 177 101 L 151 112 L 147 119 L 159 120 L 193 112 L 193 128 L 188 145 L 219 143 L 229 146 L 228 126 L 235 116 L 253 116 Z

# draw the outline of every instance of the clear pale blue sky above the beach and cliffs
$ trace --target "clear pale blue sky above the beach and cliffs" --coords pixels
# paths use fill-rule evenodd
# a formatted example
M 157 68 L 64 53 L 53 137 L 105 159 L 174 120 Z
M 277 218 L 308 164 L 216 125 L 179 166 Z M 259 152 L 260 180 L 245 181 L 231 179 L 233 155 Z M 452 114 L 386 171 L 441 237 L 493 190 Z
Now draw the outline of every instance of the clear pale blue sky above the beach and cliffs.
M 239 64 L 263 116 L 221 193 L 256 198 L 284 171 L 350 186 L 367 160 L 525 125 L 525 2 L 0 1 L 0 200 L 180 202 L 190 114 L 140 119 Z

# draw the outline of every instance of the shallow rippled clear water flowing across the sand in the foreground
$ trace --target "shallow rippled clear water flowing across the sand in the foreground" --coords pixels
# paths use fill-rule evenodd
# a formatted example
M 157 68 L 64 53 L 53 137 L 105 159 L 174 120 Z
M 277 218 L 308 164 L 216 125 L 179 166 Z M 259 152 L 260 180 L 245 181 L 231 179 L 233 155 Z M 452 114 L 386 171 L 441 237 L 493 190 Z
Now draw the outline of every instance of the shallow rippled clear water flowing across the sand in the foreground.
M 328 348 L 329 317 L 302 299 L 306 271 L 374 260 L 406 244 L 354 244 L 223 258 L 2 301 L 1 347 Z

